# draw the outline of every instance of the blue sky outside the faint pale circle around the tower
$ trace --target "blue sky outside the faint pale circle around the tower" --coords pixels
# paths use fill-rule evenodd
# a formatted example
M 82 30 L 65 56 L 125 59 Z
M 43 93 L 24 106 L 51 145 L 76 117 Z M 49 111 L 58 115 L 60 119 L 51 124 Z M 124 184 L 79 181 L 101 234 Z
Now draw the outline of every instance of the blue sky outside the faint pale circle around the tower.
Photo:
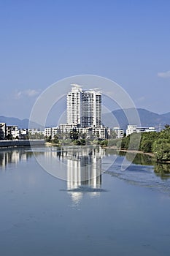
M 28 118 L 72 75 L 100 75 L 137 108 L 170 111 L 170 1 L 0 1 L 0 116 Z

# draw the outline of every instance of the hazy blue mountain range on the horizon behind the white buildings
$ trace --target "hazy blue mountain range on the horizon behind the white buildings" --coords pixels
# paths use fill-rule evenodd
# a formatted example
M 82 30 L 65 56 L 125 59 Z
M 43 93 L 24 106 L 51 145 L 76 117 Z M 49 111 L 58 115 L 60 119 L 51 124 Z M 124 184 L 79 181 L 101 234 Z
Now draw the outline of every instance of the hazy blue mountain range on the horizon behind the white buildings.
M 160 115 L 158 113 L 153 113 L 142 108 L 138 108 L 137 110 L 142 127 L 155 127 L 157 130 L 159 130 L 162 129 L 165 124 L 170 124 L 170 112 Z M 128 116 L 133 116 L 134 113 L 132 108 L 126 109 L 125 112 L 128 113 Z M 112 113 L 104 113 L 102 116 L 102 121 L 105 126 L 118 126 L 124 130 L 128 125 L 128 119 L 126 118 L 123 110 L 114 110 Z M 0 116 L 0 123 L 7 123 L 7 125 L 18 125 L 19 128 L 28 128 L 29 120 L 26 118 L 20 120 L 19 118 Z M 47 125 L 48 127 L 53 127 L 51 124 Z M 41 125 L 36 123 L 31 123 L 30 127 L 36 129 L 44 129 Z

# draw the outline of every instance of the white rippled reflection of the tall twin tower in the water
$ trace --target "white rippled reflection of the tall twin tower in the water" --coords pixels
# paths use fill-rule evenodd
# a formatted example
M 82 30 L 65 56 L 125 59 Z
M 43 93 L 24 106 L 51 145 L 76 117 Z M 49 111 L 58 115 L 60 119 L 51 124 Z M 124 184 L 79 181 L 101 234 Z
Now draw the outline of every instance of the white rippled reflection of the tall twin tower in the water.
M 70 148 L 61 150 L 60 157 L 66 159 L 67 191 L 74 203 L 82 198 L 83 193 L 99 195 L 101 188 L 101 158 L 104 155 L 102 148 Z

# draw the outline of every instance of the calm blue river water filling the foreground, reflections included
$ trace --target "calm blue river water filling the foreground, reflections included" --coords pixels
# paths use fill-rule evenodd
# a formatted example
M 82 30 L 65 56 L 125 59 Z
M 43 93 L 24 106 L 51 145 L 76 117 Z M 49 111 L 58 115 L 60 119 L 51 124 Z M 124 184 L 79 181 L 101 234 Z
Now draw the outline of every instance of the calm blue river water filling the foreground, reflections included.
M 170 255 L 169 166 L 138 154 L 123 171 L 125 155 L 102 148 L 33 151 L 0 150 L 1 256 Z

